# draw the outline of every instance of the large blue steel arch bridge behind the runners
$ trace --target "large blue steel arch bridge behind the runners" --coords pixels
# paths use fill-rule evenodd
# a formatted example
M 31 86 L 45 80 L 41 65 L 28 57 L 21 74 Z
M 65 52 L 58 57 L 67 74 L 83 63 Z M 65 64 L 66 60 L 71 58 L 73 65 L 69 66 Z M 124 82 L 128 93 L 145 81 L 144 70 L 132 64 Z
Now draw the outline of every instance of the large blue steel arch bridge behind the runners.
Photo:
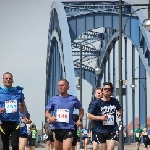
M 145 104 L 149 104 L 146 97 L 150 96 L 149 93 L 146 94 L 146 91 L 150 89 L 148 86 L 150 83 L 150 33 L 142 26 L 143 20 L 146 19 L 142 10 L 136 10 L 135 6 L 122 8 L 122 70 L 123 80 L 127 83 L 124 85 L 126 95 L 123 96 L 126 126 L 130 121 L 134 122 L 135 117 L 139 117 L 139 123 L 144 125 Z M 132 14 L 134 11 L 135 13 Z M 91 85 L 92 89 L 89 101 L 83 99 L 83 105 L 92 101 L 93 90 L 97 86 L 102 86 L 105 81 L 114 84 L 113 95 L 117 97 L 118 40 L 118 1 L 53 2 L 48 29 L 45 103 L 47 104 L 52 96 L 58 94 L 57 82 L 61 78 L 66 78 L 70 82 L 69 93 L 77 95 L 81 44 L 82 78 Z M 100 75 L 94 72 L 97 60 L 102 69 Z M 133 81 L 137 86 L 135 89 L 130 88 L 132 78 L 139 78 Z M 86 87 L 83 85 L 83 88 Z M 87 108 L 85 112 L 86 110 Z M 149 109 L 148 113 L 150 113 Z

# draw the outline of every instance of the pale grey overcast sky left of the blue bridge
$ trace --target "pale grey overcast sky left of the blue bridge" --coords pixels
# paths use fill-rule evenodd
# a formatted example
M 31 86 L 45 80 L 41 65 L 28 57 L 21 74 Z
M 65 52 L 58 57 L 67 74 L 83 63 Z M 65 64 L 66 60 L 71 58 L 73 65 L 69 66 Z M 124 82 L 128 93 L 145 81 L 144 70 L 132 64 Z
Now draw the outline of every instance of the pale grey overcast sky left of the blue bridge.
M 140 2 L 143 0 L 138 0 Z M 2 74 L 11 72 L 14 86 L 24 87 L 28 110 L 38 128 L 45 115 L 51 4 L 51 0 L 0 0 L 0 86 L 3 86 Z

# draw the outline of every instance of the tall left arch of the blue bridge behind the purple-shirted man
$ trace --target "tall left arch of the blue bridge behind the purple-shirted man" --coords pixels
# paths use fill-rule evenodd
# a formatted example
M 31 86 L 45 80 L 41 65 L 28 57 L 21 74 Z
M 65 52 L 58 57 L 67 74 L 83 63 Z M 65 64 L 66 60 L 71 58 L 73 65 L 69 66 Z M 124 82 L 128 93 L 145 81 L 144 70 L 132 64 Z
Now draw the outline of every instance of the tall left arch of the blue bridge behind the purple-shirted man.
M 56 73 L 58 73 L 58 71 L 60 71 L 58 74 L 61 74 L 63 78 L 66 78 L 70 82 L 71 88 L 69 90 L 69 93 L 76 95 L 76 84 L 74 80 L 75 75 L 74 73 L 72 73 L 74 72 L 74 65 L 71 52 L 69 27 L 67 24 L 66 12 L 61 2 L 54 2 L 52 4 L 48 36 L 49 40 L 52 40 L 55 37 L 58 43 L 58 47 L 50 48 L 50 50 L 48 49 L 49 55 L 52 55 L 52 63 L 50 65 L 50 68 L 47 67 L 47 72 L 53 72 L 53 74 L 51 74 L 53 78 L 53 81 L 51 83 L 53 84 L 50 83 L 50 90 L 52 90 L 52 92 L 49 92 L 49 94 L 51 94 L 49 95 L 49 97 L 58 93 L 56 88 L 57 82 L 59 80 L 59 77 L 56 76 Z M 60 58 L 59 63 L 56 62 L 58 58 Z M 62 66 L 62 69 L 58 69 L 58 71 L 56 71 L 59 66 Z M 48 74 L 47 76 L 50 75 Z M 49 78 L 47 79 L 47 82 L 49 83 L 50 80 Z

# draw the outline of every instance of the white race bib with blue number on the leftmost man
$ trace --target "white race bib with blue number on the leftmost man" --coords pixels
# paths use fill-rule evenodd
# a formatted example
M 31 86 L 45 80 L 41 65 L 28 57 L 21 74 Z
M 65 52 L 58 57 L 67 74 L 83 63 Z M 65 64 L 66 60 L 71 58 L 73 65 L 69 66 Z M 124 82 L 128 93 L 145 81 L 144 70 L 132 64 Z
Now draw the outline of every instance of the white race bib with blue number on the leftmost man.
M 5 101 L 6 113 L 17 112 L 17 100 L 8 100 Z

